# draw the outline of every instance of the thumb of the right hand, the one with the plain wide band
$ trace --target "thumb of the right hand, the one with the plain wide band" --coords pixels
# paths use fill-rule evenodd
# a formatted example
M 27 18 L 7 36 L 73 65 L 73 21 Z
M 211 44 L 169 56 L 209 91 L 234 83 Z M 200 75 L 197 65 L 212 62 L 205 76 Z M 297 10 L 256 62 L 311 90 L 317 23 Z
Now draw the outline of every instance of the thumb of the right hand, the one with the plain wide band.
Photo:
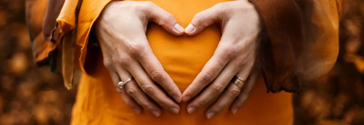
M 191 20 L 191 23 L 186 27 L 185 33 L 189 36 L 193 36 L 201 32 L 207 26 L 221 21 L 221 12 L 218 8 L 219 5 L 215 5 L 214 7 L 197 13 Z

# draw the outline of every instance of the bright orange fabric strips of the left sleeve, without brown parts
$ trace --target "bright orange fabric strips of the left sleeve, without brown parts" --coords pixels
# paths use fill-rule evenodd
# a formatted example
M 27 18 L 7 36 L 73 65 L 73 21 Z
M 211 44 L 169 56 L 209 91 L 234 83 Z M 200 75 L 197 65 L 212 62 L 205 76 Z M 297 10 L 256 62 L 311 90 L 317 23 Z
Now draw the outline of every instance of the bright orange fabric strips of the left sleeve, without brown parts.
M 76 44 L 75 44 L 75 66 L 79 67 L 83 72 L 83 64 L 86 58 L 88 37 L 91 27 L 98 18 L 103 8 L 112 0 L 83 0 L 77 22 Z M 57 18 L 58 26 L 55 39 L 59 43 L 61 38 L 72 29 L 75 28 L 75 12 L 78 0 L 66 0 L 62 10 Z

